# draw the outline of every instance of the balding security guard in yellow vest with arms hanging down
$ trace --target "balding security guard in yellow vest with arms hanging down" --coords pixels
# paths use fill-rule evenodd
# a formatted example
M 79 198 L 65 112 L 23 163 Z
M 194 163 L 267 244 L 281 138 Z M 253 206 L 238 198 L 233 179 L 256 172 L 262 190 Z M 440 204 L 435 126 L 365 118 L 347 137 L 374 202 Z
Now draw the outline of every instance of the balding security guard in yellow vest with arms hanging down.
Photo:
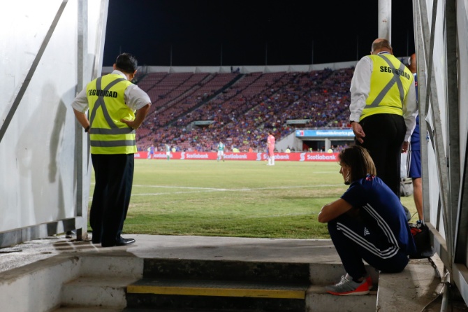
M 356 144 L 369 150 L 377 176 L 400 197 L 401 153 L 416 125 L 414 77 L 388 40 L 372 43 L 351 80 L 350 123 Z

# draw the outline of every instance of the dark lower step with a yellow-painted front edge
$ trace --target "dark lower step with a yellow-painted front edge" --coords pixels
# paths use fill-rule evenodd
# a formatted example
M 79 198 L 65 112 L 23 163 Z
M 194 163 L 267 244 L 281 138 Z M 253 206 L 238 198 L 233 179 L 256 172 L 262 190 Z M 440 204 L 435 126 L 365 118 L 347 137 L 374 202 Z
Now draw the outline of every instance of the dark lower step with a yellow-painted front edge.
M 145 278 L 127 288 L 127 307 L 181 311 L 305 311 L 309 283 Z

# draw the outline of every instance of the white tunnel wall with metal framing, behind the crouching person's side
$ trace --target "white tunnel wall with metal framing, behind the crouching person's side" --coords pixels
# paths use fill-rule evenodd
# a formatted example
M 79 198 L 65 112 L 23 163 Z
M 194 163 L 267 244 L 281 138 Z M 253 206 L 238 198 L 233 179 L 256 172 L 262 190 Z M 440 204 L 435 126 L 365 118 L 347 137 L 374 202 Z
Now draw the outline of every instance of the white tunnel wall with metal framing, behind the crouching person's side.
M 422 38 L 418 41 L 418 53 L 432 55 L 429 64 L 427 59 L 418 64 L 427 73 L 418 83 L 430 90 L 427 101 L 420 103 L 429 106 L 424 118 L 431 135 L 425 155 L 427 176 L 423 176 L 427 183 L 423 189 L 428 201 L 425 211 L 429 206 L 425 220 L 443 237 L 444 241 L 434 246 L 453 275 L 451 282 L 468 302 L 467 279 L 457 273 L 460 269 L 466 271 L 468 266 L 468 1 L 438 0 L 437 13 L 432 16 L 434 2 L 414 0 L 416 14 L 421 13 L 421 24 L 415 25 Z M 432 78 L 430 84 L 428 78 Z

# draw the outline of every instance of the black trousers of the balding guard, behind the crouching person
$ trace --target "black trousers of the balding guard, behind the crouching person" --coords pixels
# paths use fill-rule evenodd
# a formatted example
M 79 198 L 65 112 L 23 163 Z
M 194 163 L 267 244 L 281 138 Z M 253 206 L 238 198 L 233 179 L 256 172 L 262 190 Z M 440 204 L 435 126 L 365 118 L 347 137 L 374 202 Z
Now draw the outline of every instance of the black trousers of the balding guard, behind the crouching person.
M 400 198 L 402 145 L 407 126 L 404 118 L 395 114 L 375 114 L 361 120 L 364 142 L 356 144 L 369 150 L 377 176 Z

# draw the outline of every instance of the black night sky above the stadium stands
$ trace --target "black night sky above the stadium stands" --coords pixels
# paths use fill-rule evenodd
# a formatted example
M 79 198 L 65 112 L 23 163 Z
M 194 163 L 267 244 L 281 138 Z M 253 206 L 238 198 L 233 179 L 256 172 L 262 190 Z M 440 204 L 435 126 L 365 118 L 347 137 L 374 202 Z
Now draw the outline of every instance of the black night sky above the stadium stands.
M 378 0 L 110 0 L 104 66 L 321 64 L 369 54 Z M 312 7 L 312 8 L 309 8 Z M 412 2 L 393 0 L 396 56 L 414 52 Z M 222 51 L 222 52 L 221 52 Z

